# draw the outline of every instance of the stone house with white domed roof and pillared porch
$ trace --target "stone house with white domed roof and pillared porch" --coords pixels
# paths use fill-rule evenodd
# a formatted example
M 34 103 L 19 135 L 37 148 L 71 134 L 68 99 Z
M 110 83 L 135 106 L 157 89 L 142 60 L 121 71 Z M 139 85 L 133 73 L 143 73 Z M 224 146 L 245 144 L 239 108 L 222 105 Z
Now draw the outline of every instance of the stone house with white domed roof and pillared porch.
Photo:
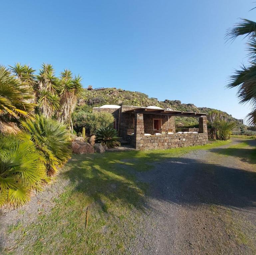
M 118 130 L 119 136 L 129 141 L 137 150 L 203 145 L 208 142 L 207 114 L 204 113 L 173 111 L 155 106 L 124 105 L 94 107 L 93 112 L 113 114 L 114 128 Z M 175 116 L 198 118 L 199 128 L 176 133 Z

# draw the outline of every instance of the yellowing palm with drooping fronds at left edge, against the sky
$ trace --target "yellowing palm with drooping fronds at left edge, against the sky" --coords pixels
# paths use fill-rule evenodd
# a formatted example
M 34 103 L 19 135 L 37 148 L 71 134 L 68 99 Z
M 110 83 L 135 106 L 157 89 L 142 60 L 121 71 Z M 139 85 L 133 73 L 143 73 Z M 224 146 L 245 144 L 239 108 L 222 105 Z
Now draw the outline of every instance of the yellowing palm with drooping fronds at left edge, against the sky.
M 0 66 L 0 132 L 17 132 L 15 122 L 33 114 L 31 99 L 33 89 Z

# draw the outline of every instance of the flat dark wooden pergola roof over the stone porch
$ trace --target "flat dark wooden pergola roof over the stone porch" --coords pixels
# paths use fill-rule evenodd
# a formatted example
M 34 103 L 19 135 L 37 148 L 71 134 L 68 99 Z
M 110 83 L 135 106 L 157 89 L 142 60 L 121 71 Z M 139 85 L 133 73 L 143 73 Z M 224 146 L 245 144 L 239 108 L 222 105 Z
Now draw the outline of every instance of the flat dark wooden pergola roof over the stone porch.
M 124 113 L 143 113 L 143 114 L 195 117 L 195 118 L 208 115 L 207 113 L 182 112 L 182 111 L 173 111 L 173 110 L 166 110 L 166 109 L 153 109 L 153 108 L 147 108 L 147 107 L 134 108 L 131 110 L 124 111 Z

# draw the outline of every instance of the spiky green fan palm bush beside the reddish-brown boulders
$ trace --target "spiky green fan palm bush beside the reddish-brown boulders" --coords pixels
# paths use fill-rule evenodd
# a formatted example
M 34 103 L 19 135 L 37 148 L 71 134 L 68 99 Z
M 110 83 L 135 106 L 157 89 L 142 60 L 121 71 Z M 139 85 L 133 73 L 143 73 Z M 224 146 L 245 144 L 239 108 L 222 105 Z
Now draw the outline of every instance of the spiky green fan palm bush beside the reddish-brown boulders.
M 55 175 L 57 168 L 70 159 L 70 141 L 66 126 L 62 123 L 43 115 L 36 115 L 33 121 L 22 121 L 21 129 L 19 137 L 23 141 L 32 141 L 35 144 L 48 176 Z

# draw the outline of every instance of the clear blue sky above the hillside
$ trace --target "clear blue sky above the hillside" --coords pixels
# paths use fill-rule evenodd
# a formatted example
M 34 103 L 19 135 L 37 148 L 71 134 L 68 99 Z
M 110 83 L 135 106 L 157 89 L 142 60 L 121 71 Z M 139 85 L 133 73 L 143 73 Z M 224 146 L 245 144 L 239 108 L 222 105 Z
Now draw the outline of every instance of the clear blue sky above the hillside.
M 247 62 L 245 40 L 226 44 L 239 17 L 256 20 L 253 0 L 2 1 L 1 58 L 71 69 L 87 87 L 141 91 L 244 118 L 234 68 Z

